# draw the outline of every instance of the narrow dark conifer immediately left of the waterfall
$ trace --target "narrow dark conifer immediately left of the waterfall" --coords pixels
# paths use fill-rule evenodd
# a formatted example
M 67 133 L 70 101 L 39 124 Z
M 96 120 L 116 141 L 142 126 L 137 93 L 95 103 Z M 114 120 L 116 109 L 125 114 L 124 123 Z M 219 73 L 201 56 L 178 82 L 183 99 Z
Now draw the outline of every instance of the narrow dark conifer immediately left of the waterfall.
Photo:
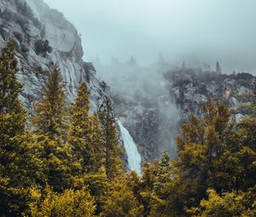
M 120 159 L 121 149 L 115 127 L 113 109 L 107 100 L 104 110 L 100 112 L 103 135 L 104 165 L 108 179 L 116 178 L 122 171 L 122 161 Z

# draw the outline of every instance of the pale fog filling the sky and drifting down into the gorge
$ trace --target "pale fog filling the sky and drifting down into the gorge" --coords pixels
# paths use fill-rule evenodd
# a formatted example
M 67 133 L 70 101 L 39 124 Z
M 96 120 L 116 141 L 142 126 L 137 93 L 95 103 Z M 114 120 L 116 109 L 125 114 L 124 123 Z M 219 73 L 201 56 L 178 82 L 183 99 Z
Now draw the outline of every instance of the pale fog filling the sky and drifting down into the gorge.
M 157 149 L 172 157 L 183 115 L 163 74 L 183 62 L 215 71 L 216 61 L 224 73 L 256 73 L 255 0 L 44 1 L 77 27 L 84 60 L 93 61 L 97 77 L 110 86 L 117 116 L 133 124 L 134 133 L 143 130 L 140 117 L 134 119 L 141 106 L 146 119 L 156 112 Z

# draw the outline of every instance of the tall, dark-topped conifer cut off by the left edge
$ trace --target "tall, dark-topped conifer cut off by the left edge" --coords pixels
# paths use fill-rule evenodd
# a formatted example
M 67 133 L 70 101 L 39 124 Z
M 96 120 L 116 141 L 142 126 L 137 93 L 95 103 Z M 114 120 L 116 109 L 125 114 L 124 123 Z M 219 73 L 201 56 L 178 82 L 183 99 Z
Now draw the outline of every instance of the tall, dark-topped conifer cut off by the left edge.
M 26 133 L 26 111 L 18 96 L 15 43 L 0 56 L 0 215 L 20 216 L 26 209 L 28 188 L 40 174 L 37 147 Z

